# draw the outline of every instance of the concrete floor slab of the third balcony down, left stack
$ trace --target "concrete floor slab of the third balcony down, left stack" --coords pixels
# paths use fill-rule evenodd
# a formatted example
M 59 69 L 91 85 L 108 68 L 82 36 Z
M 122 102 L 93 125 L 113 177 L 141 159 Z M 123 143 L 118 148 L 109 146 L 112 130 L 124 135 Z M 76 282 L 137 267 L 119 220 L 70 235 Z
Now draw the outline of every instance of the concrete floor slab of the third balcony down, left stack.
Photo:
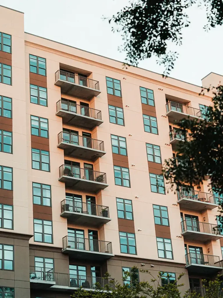
M 95 161 L 98 157 L 105 155 L 105 151 L 96 150 L 90 147 L 83 147 L 75 144 L 70 144 L 66 142 L 60 142 L 57 145 L 58 148 L 64 150 L 64 155 L 69 155 L 78 158 L 85 158 Z

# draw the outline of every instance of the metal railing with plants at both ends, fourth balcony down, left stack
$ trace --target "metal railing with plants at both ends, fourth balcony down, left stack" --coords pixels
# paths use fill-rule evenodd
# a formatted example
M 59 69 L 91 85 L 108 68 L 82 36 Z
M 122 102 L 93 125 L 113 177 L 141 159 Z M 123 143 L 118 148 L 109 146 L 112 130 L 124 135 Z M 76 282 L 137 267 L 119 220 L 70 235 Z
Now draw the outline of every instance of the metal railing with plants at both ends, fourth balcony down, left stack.
M 106 183 L 106 174 L 102 172 L 96 172 L 93 170 L 83 169 L 79 167 L 74 167 L 66 164 L 62 164 L 59 167 L 59 175 L 68 176 L 77 179 L 85 179 L 89 181 L 96 181 L 100 183 Z

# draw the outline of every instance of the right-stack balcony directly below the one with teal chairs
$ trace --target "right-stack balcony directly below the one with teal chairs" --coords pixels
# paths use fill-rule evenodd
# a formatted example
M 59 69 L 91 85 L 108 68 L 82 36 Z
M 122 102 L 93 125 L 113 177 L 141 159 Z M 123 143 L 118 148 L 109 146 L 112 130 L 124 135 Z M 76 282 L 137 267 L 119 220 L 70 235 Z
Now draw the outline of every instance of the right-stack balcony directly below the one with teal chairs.
M 181 222 L 181 235 L 191 241 L 207 242 L 223 238 L 221 230 L 216 224 L 186 219 Z

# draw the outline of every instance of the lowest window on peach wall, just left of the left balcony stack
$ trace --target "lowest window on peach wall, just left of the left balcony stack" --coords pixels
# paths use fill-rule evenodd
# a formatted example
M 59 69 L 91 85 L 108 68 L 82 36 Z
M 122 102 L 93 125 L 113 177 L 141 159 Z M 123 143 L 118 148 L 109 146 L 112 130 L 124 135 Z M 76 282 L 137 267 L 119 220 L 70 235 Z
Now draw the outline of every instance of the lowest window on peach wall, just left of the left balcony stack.
M 52 221 L 34 219 L 34 241 L 53 243 Z

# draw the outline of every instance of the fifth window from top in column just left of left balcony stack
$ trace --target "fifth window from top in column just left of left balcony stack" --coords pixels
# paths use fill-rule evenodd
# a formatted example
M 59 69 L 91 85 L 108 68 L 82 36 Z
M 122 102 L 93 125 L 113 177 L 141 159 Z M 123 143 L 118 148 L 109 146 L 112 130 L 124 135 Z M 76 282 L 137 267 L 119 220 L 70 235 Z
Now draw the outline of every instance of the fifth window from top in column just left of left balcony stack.
M 32 182 L 33 204 L 51 206 L 51 186 Z

